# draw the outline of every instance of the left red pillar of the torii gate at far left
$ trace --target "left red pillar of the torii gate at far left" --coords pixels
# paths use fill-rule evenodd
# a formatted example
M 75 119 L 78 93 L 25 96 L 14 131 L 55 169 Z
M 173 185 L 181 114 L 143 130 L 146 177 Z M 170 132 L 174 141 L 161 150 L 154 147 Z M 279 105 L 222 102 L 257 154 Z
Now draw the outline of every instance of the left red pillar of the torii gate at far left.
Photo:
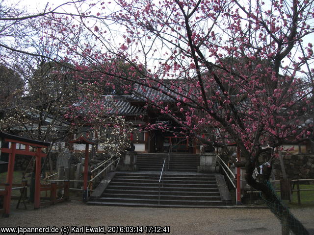
M 6 175 L 6 196 L 4 198 L 4 214 L 3 217 L 9 217 L 11 194 L 12 194 L 12 183 L 13 183 L 13 172 L 14 172 L 14 161 L 15 161 L 16 143 L 11 142 L 10 153 L 9 153 L 9 164 L 8 173 Z

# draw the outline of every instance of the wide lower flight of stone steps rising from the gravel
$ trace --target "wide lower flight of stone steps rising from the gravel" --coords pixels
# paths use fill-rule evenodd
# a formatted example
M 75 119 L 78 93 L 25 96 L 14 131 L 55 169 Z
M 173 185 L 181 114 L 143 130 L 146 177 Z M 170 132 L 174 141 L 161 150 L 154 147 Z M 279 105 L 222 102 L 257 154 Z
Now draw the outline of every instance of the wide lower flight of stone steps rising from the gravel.
M 159 174 L 157 172 L 115 172 L 111 180 L 105 181 L 105 190 L 101 195 L 90 197 L 88 204 L 192 208 L 231 206 L 230 198 L 221 195 L 221 187 L 226 188 L 226 186 L 218 183 L 224 181 L 220 177 L 222 176 L 219 174 L 166 172 L 163 186 L 160 185 L 160 204 L 158 204 Z

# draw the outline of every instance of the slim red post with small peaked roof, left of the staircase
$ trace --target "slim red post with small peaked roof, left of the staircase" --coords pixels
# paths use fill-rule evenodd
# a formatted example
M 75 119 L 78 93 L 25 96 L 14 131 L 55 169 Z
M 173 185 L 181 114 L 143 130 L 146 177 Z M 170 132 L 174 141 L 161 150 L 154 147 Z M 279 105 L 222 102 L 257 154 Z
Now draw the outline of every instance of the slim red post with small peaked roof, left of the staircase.
M 84 177 L 83 177 L 83 202 L 87 202 L 87 174 L 88 174 L 88 152 L 89 144 L 95 145 L 96 142 L 88 139 L 87 136 L 80 134 L 79 137 L 69 143 L 85 144 Z

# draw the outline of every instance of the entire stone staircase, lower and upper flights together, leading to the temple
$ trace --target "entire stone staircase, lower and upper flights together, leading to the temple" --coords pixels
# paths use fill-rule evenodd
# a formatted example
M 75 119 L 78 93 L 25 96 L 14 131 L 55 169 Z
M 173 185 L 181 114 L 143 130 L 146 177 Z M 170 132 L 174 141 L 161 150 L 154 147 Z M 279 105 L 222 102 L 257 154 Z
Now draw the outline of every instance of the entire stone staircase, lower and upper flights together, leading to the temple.
M 232 200 L 220 174 L 197 173 L 199 155 L 172 154 L 158 188 L 165 154 L 138 154 L 140 171 L 110 172 L 89 198 L 89 205 L 133 207 L 230 207 Z

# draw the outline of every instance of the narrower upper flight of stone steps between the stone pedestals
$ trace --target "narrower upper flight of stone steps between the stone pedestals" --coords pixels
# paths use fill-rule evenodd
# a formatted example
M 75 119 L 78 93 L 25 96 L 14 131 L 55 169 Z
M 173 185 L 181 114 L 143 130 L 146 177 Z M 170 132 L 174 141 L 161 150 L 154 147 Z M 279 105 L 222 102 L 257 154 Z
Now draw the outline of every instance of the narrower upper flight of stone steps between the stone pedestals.
M 137 154 L 136 164 L 139 170 L 160 171 L 164 158 L 167 154 L 142 153 Z M 200 163 L 198 154 L 172 154 L 169 161 L 168 171 L 190 171 L 197 172 Z

